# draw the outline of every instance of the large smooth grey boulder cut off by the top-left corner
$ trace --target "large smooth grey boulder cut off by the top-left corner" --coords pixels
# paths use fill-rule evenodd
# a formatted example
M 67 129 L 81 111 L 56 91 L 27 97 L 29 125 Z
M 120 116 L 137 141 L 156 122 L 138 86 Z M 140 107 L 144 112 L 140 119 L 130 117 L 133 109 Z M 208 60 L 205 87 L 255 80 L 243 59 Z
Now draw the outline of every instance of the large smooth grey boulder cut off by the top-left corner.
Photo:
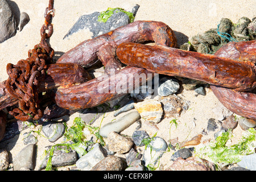
M 0 0 L 0 43 L 16 34 L 17 23 L 6 0 Z

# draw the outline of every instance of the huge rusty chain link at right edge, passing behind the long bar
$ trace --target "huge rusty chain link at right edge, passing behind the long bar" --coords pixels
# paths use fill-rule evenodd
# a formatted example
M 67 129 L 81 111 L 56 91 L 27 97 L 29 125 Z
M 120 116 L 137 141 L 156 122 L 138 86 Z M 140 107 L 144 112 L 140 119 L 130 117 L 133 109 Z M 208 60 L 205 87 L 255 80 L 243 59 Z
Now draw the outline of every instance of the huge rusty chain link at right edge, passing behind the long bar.
M 228 57 L 238 61 L 256 62 L 256 40 L 231 42 L 218 49 L 216 56 Z M 211 85 L 214 95 L 230 111 L 242 117 L 256 119 L 256 90 L 238 92 L 236 90 Z M 254 92 L 254 93 L 253 93 Z

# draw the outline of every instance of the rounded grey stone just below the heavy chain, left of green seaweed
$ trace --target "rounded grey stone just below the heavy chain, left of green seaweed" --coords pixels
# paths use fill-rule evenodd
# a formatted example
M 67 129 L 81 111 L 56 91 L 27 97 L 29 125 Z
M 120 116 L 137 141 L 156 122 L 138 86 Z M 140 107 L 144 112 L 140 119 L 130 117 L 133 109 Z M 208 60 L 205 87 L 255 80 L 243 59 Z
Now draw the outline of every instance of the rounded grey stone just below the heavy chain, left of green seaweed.
M 42 131 L 49 142 L 56 142 L 65 133 L 65 126 L 60 122 L 47 121 L 43 123 Z

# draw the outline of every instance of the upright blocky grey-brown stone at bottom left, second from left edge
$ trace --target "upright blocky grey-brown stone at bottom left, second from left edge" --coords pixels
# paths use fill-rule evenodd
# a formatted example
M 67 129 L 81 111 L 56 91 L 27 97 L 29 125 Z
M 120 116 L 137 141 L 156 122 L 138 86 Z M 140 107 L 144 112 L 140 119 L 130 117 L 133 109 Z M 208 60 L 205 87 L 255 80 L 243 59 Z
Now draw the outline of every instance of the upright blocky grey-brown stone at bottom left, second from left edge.
M 21 168 L 34 170 L 35 168 L 36 145 L 28 144 L 13 159 L 14 171 Z

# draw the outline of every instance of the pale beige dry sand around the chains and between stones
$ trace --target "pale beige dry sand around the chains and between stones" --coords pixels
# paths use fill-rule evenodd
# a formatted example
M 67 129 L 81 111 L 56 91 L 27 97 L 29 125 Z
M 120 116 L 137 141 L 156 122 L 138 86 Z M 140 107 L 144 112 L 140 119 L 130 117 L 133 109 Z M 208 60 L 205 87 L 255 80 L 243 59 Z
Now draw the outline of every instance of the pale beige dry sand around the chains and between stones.
M 47 0 L 15 0 L 13 5 L 18 6 L 16 14 L 26 12 L 30 16 L 30 22 L 23 28 L 21 32 L 17 32 L 13 38 L 6 40 L 6 42 L 0 44 L 0 81 L 6 80 L 6 65 L 7 63 L 16 64 L 20 59 L 27 58 L 28 49 L 32 49 L 35 44 L 40 41 L 40 28 L 44 22 L 44 10 L 48 6 Z M 196 35 L 199 32 L 204 32 L 210 28 L 216 28 L 221 18 L 229 18 L 233 22 L 237 22 L 242 16 L 247 16 L 252 19 L 256 16 L 256 6 L 254 1 L 184 1 L 184 0 L 56 0 L 55 1 L 55 17 L 53 18 L 54 32 L 51 37 L 50 43 L 57 54 L 68 51 L 75 47 L 80 42 L 89 39 L 92 34 L 88 31 L 81 31 L 69 37 L 69 39 L 63 40 L 65 34 L 76 22 L 76 20 L 84 14 L 90 14 L 94 11 L 104 11 L 108 7 L 122 7 L 124 9 L 129 8 L 135 4 L 140 5 L 135 20 L 156 20 L 168 24 L 172 30 L 175 31 L 178 43 L 183 44 L 188 41 L 188 38 Z M 180 142 L 186 139 L 191 139 L 197 134 L 200 134 L 203 129 L 207 127 L 207 121 L 209 118 L 214 118 L 216 115 L 212 112 L 213 107 L 218 104 L 217 98 L 214 96 L 210 89 L 207 89 L 207 96 L 195 97 L 195 92 L 186 91 L 180 94 L 185 100 L 191 102 L 189 110 L 181 114 L 178 121 L 178 127 L 171 128 L 170 133 L 170 121 L 171 119 L 164 119 L 158 123 L 157 130 L 159 137 L 164 139 L 179 138 Z M 120 114 L 118 117 L 122 117 L 125 113 Z M 78 114 L 74 114 L 69 118 L 68 125 L 72 125 L 73 118 Z M 194 119 L 196 121 L 194 122 Z M 102 125 L 108 123 L 114 119 L 113 113 L 107 113 L 103 119 Z M 100 120 L 96 121 L 94 125 L 98 125 Z M 143 123 L 143 122 L 142 122 Z M 130 126 L 123 131 L 123 134 L 130 135 L 133 133 L 137 124 Z M 146 128 L 148 133 L 152 136 L 156 130 L 142 124 L 142 129 Z M 236 135 L 241 133 L 240 127 L 234 131 Z M 13 158 L 24 147 L 22 134 L 27 130 L 22 131 L 20 135 L 0 144 L 1 147 L 6 147 L 11 153 Z M 212 138 L 209 134 L 204 136 L 204 139 Z M 52 145 L 44 137 L 38 137 L 38 151 L 43 151 L 45 146 Z M 61 139 L 60 139 L 61 140 Z M 59 142 L 59 140 L 57 141 Z M 40 164 L 40 156 L 38 155 L 38 161 L 36 163 L 36 169 Z M 163 168 L 166 168 L 171 164 L 170 156 L 173 151 L 166 152 L 160 159 L 160 164 L 163 164 Z

